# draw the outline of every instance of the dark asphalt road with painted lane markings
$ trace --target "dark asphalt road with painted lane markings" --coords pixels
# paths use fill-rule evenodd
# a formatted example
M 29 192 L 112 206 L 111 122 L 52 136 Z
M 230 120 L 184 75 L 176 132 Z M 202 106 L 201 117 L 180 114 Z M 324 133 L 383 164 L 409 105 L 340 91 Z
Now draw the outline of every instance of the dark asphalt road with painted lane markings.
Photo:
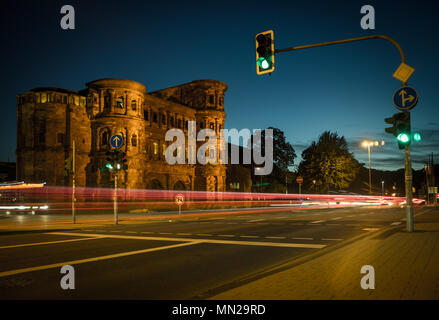
M 404 224 L 404 218 L 398 207 L 243 211 L 2 232 L 0 299 L 208 298 L 296 258 Z M 63 265 L 74 267 L 74 290 L 60 286 Z

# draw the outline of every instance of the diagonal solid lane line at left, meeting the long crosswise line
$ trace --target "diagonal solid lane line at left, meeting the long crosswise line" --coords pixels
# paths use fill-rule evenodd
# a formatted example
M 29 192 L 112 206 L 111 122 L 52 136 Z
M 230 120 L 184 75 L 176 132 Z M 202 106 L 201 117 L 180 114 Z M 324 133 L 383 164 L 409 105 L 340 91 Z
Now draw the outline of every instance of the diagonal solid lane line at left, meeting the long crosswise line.
M 39 270 L 58 268 L 58 267 L 62 267 L 65 265 L 75 265 L 75 264 L 80 264 L 80 263 L 95 262 L 95 261 L 100 261 L 100 260 L 108 260 L 108 259 L 114 259 L 114 258 L 119 258 L 119 257 L 132 256 L 135 254 L 142 254 L 142 253 L 147 253 L 147 252 L 154 252 L 154 251 L 160 251 L 160 250 L 166 250 L 166 249 L 172 249 L 172 248 L 178 248 L 178 247 L 184 247 L 184 246 L 191 246 L 191 245 L 198 244 L 198 243 L 199 243 L 198 241 L 191 241 L 191 242 L 173 244 L 173 245 L 169 245 L 169 246 L 162 246 L 162 247 L 156 247 L 156 248 L 149 248 L 149 249 L 143 249 L 143 250 L 110 254 L 110 255 L 100 256 L 100 257 L 93 257 L 93 258 L 87 258 L 87 259 L 81 259 L 81 260 L 64 261 L 64 262 L 60 262 L 60 263 L 46 264 L 46 265 L 37 266 L 37 267 L 9 270 L 9 271 L 0 272 L 0 277 L 7 277 L 7 276 L 14 275 L 14 274 L 31 272 L 31 271 L 39 271 Z

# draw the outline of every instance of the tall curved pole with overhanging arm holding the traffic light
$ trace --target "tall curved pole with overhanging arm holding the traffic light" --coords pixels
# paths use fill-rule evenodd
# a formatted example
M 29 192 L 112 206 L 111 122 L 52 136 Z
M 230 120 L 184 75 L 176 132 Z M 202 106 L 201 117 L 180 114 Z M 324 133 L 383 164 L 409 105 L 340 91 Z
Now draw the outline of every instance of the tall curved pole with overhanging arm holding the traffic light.
M 287 52 L 287 51 L 293 51 L 293 50 L 301 50 L 301 49 L 308 49 L 308 48 L 316 48 L 316 47 L 323 47 L 323 46 L 329 46 L 329 45 L 335 45 L 335 44 L 343 44 L 343 43 L 349 43 L 349 42 L 356 42 L 356 41 L 362 41 L 362 40 L 372 40 L 372 39 L 383 39 L 386 41 L 391 42 L 399 51 L 399 54 L 401 55 L 401 63 L 405 64 L 405 55 L 404 51 L 402 50 L 401 45 L 396 42 L 394 39 L 384 36 L 384 35 L 371 35 L 371 36 L 365 36 L 365 37 L 358 37 L 358 38 L 350 38 L 350 39 L 343 39 L 343 40 L 337 40 L 337 41 L 329 41 L 329 42 L 320 42 L 320 43 L 314 43 L 304 46 L 295 46 L 285 49 L 275 49 L 274 53 L 280 53 L 280 52 Z M 407 82 L 403 82 L 403 86 L 407 86 Z M 412 166 L 410 161 L 410 145 L 405 146 L 405 194 L 406 194 L 406 213 L 407 213 L 407 231 L 413 232 L 413 204 L 412 204 Z

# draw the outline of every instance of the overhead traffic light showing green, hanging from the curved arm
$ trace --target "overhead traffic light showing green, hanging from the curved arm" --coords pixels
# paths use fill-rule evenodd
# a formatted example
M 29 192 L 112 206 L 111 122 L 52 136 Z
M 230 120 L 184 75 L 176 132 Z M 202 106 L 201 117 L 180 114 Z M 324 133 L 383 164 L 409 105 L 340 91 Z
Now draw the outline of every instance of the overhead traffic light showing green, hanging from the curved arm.
M 267 30 L 256 35 L 256 73 L 271 73 L 274 70 L 274 32 Z

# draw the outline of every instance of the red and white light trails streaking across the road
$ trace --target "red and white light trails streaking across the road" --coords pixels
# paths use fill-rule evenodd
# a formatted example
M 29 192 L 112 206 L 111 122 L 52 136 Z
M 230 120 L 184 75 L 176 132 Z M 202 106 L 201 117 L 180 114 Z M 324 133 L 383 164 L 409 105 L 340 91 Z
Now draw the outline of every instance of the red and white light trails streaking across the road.
M 3 188 L 3 189 L 1 189 Z M 279 194 L 243 192 L 205 192 L 180 190 L 118 189 L 121 213 L 175 211 L 175 196 L 183 194 L 183 210 L 220 210 L 240 208 L 256 211 L 284 211 L 376 205 L 404 205 L 404 197 L 333 194 Z M 113 210 L 115 192 L 111 188 L 75 188 L 75 208 L 83 213 L 107 213 Z M 0 212 L 69 213 L 72 188 L 44 184 L 0 185 Z M 413 199 L 415 204 L 424 202 Z M 258 209 L 259 208 L 259 209 Z M 242 211 L 241 211 L 242 212 Z

